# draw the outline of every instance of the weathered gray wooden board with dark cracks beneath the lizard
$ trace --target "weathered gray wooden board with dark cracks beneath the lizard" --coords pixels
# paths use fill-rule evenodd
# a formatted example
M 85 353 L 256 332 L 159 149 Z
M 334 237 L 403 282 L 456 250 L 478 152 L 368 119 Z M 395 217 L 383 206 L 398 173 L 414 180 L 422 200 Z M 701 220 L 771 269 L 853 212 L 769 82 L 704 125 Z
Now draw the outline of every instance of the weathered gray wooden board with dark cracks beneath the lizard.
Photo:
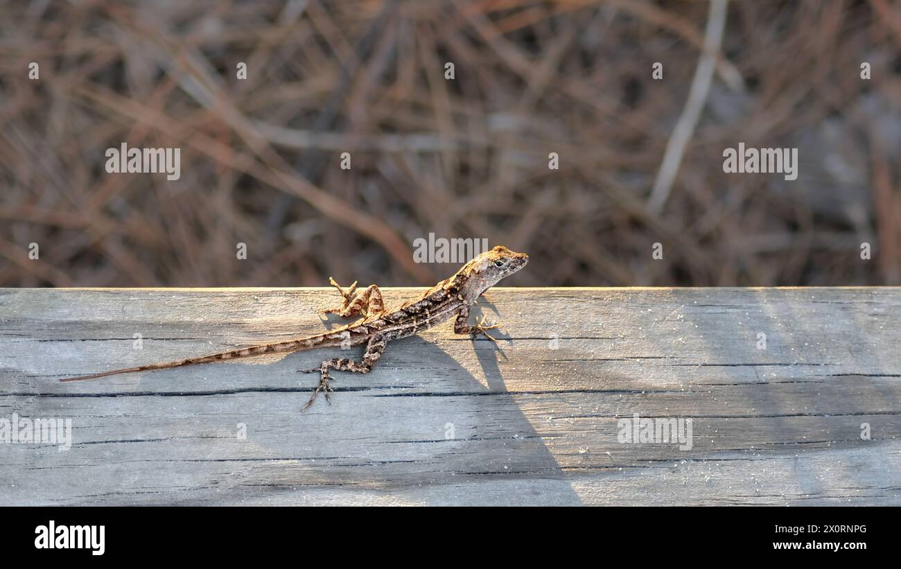
M 347 352 L 57 381 L 314 333 L 335 300 L 0 291 L 0 418 L 74 426 L 0 443 L 0 503 L 901 504 L 897 288 L 497 289 L 500 351 L 448 323 L 305 413 L 296 369 Z M 636 412 L 693 419 L 693 448 L 618 442 Z

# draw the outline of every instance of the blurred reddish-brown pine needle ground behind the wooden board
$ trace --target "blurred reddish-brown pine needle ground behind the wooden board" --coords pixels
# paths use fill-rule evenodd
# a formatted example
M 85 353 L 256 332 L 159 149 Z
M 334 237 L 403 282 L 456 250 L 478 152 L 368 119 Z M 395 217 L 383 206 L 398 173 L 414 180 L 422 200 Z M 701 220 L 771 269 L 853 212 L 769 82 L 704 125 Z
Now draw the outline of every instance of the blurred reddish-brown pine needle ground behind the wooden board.
M 901 284 L 899 4 L 734 2 L 705 50 L 712 7 L 5 3 L 0 285 L 424 285 L 430 232 L 527 251 L 511 285 Z M 181 178 L 107 174 L 122 142 Z M 724 174 L 739 142 L 798 178 Z

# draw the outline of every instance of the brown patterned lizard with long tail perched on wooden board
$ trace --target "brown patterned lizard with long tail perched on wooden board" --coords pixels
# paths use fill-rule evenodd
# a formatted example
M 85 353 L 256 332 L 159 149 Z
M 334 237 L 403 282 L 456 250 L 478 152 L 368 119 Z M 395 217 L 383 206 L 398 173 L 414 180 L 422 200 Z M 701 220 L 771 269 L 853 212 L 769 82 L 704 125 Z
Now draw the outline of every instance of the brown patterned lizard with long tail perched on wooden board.
M 432 286 L 423 294 L 403 303 L 393 312 L 387 312 L 385 309 L 382 293 L 378 290 L 378 286 L 369 285 L 354 295 L 354 292 L 357 290 L 356 282 L 350 285 L 347 290 L 344 290 L 341 285 L 338 285 L 330 277 L 329 281 L 341 293 L 344 303 L 341 305 L 341 308 L 328 309 L 321 312 L 340 314 L 344 318 L 362 314 L 362 318 L 359 321 L 306 338 L 263 344 L 250 348 L 233 349 L 213 354 L 212 356 L 189 357 L 162 364 L 128 367 L 100 374 L 68 377 L 59 381 L 76 382 L 107 375 L 222 362 L 237 357 L 287 354 L 313 348 L 362 346 L 365 344 L 366 350 L 363 352 L 363 358 L 359 362 L 347 357 L 335 357 L 326 359 L 319 367 L 314 369 L 298 370 L 304 373 L 319 372 L 319 384 L 314 388 L 310 401 L 306 402 L 301 408 L 301 411 L 304 411 L 313 404 L 316 395 L 320 392 L 325 394 L 326 401 L 331 402 L 329 398 L 329 393 L 332 392 L 332 388 L 329 386 L 329 381 L 332 379 L 332 375 L 329 374 L 330 369 L 368 374 L 372 366 L 375 366 L 378 362 L 382 352 L 385 351 L 387 342 L 413 336 L 416 332 L 422 330 L 428 330 L 448 320 L 455 314 L 457 316 L 453 327 L 455 333 L 472 334 L 473 339 L 478 334 L 483 334 L 494 341 L 495 339 L 488 335 L 487 330 L 495 329 L 500 324 L 486 326 L 484 317 L 476 325 L 468 324 L 469 309 L 478 300 L 479 296 L 496 285 L 505 276 L 513 275 L 516 271 L 523 268 L 528 261 L 528 255 L 514 253 L 508 248 L 498 246 L 473 258 L 451 278 L 441 281 L 441 283 Z

